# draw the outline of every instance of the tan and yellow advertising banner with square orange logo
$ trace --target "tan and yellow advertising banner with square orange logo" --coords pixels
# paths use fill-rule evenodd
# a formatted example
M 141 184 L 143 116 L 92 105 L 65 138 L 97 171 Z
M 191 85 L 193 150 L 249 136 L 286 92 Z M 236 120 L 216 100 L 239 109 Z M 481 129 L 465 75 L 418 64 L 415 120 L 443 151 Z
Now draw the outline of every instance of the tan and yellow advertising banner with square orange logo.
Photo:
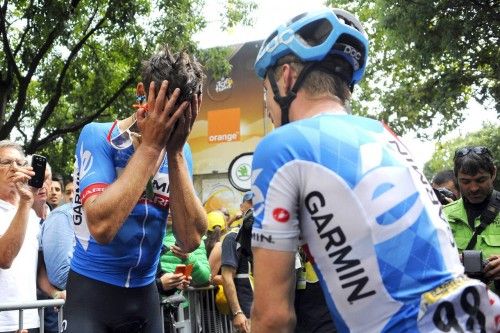
M 203 105 L 189 136 L 194 174 L 227 173 L 231 161 L 252 153 L 272 129 L 265 115 L 262 81 L 253 70 L 260 41 L 233 46 L 231 73 L 207 75 Z

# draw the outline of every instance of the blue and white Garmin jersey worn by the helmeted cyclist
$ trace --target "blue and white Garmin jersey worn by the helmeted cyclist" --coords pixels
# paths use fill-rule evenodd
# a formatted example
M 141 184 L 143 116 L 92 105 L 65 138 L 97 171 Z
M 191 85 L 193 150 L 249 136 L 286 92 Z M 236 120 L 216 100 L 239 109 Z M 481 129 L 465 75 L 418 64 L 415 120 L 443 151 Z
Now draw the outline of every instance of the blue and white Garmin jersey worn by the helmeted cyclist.
M 340 332 L 417 331 L 421 294 L 463 273 L 429 182 L 378 121 L 292 122 L 252 169 L 252 246 L 305 244 Z

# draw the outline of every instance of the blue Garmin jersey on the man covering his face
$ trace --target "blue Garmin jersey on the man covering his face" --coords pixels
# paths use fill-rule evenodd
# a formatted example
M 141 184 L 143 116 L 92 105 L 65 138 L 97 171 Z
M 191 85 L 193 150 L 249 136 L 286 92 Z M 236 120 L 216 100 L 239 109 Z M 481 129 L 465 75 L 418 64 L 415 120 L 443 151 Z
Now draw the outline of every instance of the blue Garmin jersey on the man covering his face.
M 115 123 L 86 125 L 76 146 L 73 224 L 76 245 L 71 269 L 88 278 L 121 287 L 141 287 L 155 279 L 169 212 L 168 164 L 165 158 L 137 205 L 109 244 L 91 236 L 83 209 L 85 201 L 103 192 L 123 172 L 134 147 L 115 149 L 108 139 L 118 135 Z M 191 150 L 184 157 L 192 175 Z

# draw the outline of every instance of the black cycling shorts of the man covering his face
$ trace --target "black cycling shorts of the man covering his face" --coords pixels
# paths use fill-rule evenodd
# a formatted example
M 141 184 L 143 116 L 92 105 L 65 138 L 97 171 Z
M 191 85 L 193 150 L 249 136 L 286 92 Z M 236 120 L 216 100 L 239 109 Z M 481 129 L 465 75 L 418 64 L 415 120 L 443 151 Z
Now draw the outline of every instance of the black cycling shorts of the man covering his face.
M 156 284 L 124 288 L 69 271 L 64 332 L 158 333 L 162 331 Z

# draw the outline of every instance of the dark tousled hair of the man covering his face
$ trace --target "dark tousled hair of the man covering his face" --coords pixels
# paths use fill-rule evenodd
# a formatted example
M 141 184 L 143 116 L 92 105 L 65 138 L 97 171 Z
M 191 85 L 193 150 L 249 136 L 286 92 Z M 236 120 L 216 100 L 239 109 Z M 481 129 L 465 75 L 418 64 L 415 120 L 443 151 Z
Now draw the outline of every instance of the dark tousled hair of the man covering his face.
M 163 80 L 168 80 L 167 95 L 171 96 L 175 88 L 181 90 L 177 104 L 191 100 L 194 94 L 200 95 L 204 78 L 201 64 L 185 51 L 172 53 L 168 46 L 154 54 L 142 64 L 142 81 L 146 93 L 149 85 L 155 82 L 156 93 Z

